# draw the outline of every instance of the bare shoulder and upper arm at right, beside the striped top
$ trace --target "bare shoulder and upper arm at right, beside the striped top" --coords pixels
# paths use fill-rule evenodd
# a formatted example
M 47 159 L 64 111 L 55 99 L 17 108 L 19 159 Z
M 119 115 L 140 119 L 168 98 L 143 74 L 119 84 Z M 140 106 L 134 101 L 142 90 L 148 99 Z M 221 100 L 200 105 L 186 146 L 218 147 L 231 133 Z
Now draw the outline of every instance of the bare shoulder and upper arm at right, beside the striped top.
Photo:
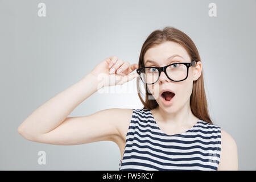
M 238 170 L 236 141 L 223 129 L 221 129 L 221 154 L 218 170 Z

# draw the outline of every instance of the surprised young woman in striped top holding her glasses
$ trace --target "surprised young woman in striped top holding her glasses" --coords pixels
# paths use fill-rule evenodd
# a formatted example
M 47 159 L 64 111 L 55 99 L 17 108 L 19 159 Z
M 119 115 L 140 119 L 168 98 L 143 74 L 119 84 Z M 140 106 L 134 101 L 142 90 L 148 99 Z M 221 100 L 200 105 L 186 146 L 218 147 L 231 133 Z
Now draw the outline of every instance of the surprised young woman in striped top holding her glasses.
M 135 77 L 143 109 L 67 117 L 98 89 Z M 146 89 L 144 99 L 139 81 Z M 138 64 L 117 56 L 102 61 L 33 111 L 18 132 L 48 144 L 113 141 L 121 152 L 119 170 L 238 169 L 236 142 L 209 117 L 199 52 L 188 35 L 173 27 L 148 36 Z

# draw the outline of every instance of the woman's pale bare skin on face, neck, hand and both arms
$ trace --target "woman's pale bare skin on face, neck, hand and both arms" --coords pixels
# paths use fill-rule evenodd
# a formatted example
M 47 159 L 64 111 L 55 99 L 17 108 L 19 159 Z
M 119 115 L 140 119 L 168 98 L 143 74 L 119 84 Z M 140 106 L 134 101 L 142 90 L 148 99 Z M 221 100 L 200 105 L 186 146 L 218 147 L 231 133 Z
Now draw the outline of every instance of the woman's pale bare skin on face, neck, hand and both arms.
M 180 55 L 183 59 L 175 56 L 171 60 L 167 60 L 172 55 Z M 172 60 L 191 62 L 185 49 L 174 42 L 166 42 L 148 49 L 144 55 L 144 61 L 147 59 L 155 60 L 158 65 L 147 63 L 145 66 L 154 65 L 156 67 L 170 64 Z M 113 73 L 109 72 L 110 68 L 115 68 Z M 130 64 L 128 61 L 118 59 L 117 56 L 101 61 L 80 81 L 52 97 L 28 115 L 18 127 L 18 133 L 33 142 L 57 145 L 86 144 L 109 140 L 117 143 L 122 159 L 127 129 L 133 113 L 132 109 L 113 108 L 82 117 L 67 116 L 98 89 L 104 86 L 122 85 L 138 77 L 137 73 L 131 73 L 137 68 L 138 64 Z M 118 69 L 122 69 L 122 72 L 117 73 Z M 178 84 L 168 80 L 162 72 L 155 86 L 149 88 L 151 93 L 154 93 L 156 86 L 159 86 L 160 89 L 170 86 L 172 90 L 176 91 L 175 99 L 179 102 L 174 100 L 172 108 L 161 105 L 156 92 L 154 93 L 159 107 L 151 111 L 164 133 L 183 133 L 197 122 L 198 118 L 191 113 L 188 98 L 192 91 L 192 82 L 200 77 L 201 71 L 202 65 L 199 61 L 195 67 L 189 68 L 188 78 Z M 182 95 L 183 97 L 181 97 Z M 218 170 L 238 170 L 236 142 L 222 129 L 221 158 Z

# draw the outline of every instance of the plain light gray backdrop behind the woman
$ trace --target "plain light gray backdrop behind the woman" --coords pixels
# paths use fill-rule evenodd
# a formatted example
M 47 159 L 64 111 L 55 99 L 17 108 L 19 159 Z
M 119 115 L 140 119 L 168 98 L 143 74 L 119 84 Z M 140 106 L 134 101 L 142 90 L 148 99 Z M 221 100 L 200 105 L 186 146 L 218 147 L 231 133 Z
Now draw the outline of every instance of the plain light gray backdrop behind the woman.
M 46 17 L 38 16 L 40 2 L 46 3 Z M 217 17 L 208 15 L 211 2 Z M 210 116 L 236 140 L 239 169 L 255 170 L 255 8 L 255 0 L 0 1 L 0 169 L 118 170 L 121 154 L 114 142 L 36 143 L 22 138 L 17 128 L 106 57 L 138 63 L 147 36 L 173 26 L 199 49 Z M 69 117 L 141 108 L 136 92 L 95 93 Z M 46 165 L 38 164 L 41 150 Z

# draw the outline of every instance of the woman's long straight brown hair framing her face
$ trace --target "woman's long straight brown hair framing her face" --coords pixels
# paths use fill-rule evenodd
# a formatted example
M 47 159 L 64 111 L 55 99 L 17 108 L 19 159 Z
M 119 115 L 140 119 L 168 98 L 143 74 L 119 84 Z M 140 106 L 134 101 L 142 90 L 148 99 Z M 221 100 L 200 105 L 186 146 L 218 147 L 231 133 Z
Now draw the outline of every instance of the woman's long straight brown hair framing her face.
M 146 53 L 147 49 L 158 46 L 161 43 L 166 41 L 172 41 L 179 43 L 181 46 L 185 48 L 188 52 L 189 57 L 191 60 L 201 61 L 199 52 L 191 38 L 184 32 L 177 30 L 174 27 L 165 27 L 163 30 L 155 30 L 153 31 L 145 40 L 142 48 L 141 48 L 141 55 L 139 56 L 139 68 L 144 67 L 144 54 Z M 140 78 L 137 77 L 137 90 L 139 99 L 142 101 L 144 105 L 143 109 L 155 109 L 158 106 L 158 103 L 155 99 L 152 99 L 152 94 L 148 92 L 147 86 L 144 85 L 144 89 L 146 90 L 146 95 L 143 100 L 141 94 L 141 88 L 139 86 Z M 148 96 L 151 96 L 150 100 Z M 199 119 L 206 121 L 212 124 L 212 121 L 209 117 L 208 106 L 207 106 L 207 98 L 205 96 L 204 90 L 204 78 L 203 78 L 203 71 L 201 72 L 201 76 L 193 81 L 193 90 L 190 97 L 190 106 L 192 113 Z

